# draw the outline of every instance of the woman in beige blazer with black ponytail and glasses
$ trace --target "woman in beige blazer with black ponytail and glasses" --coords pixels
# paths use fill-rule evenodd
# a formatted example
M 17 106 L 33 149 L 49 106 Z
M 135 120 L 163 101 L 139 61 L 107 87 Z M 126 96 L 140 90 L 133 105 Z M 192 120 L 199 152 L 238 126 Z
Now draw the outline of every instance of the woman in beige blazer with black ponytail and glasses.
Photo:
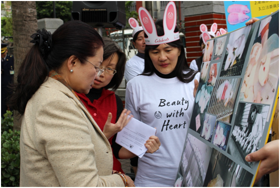
M 113 135 L 105 136 L 75 93 L 87 94 L 104 71 L 101 36 L 69 21 L 52 35 L 43 29 L 31 37 L 10 99 L 23 115 L 20 186 L 134 186 L 127 175 L 112 174 Z M 122 113 L 118 122 L 129 120 Z

